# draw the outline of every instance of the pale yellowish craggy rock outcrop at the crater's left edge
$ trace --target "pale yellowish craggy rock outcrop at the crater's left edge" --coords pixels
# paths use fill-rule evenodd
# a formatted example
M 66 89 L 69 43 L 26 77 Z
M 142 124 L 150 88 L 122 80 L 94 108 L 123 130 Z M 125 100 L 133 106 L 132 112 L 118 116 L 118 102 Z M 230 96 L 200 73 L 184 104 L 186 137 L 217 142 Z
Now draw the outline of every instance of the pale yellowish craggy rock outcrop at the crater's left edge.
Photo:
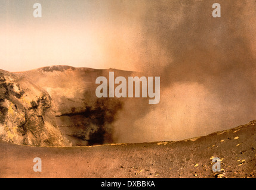
M 0 71 L 0 138 L 15 144 L 69 145 L 57 127 L 51 97 L 29 81 Z

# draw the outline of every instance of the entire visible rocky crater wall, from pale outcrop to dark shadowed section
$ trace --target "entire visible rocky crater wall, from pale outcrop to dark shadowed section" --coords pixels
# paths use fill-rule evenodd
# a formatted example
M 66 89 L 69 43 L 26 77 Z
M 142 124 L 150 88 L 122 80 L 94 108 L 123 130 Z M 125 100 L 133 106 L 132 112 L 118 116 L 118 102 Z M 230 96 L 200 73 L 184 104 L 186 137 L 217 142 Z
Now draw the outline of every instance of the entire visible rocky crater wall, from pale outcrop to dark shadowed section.
M 0 138 L 36 146 L 112 143 L 112 122 L 123 102 L 95 96 L 95 79 L 108 74 L 109 70 L 71 66 L 1 70 Z

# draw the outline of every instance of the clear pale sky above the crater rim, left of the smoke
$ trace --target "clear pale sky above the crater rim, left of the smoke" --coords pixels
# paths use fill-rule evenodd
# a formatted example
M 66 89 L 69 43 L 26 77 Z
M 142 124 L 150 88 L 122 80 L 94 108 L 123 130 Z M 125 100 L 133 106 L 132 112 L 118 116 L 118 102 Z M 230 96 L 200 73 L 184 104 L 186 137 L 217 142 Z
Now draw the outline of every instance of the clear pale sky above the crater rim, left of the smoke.
M 33 17 L 33 4 L 42 18 Z M 0 1 L 0 68 L 49 65 L 136 70 L 140 1 Z

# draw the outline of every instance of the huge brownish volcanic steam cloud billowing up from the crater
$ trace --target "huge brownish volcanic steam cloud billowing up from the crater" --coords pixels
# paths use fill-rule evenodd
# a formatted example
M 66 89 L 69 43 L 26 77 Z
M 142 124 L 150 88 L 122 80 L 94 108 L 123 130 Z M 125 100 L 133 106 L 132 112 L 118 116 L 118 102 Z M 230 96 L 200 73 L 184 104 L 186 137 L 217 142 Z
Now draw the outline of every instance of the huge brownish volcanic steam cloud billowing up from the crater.
M 214 2 L 141 1 L 144 37 L 134 51 L 138 70 L 161 77 L 161 102 L 128 100 L 116 142 L 182 140 L 255 119 L 256 3 L 218 1 L 213 18 Z

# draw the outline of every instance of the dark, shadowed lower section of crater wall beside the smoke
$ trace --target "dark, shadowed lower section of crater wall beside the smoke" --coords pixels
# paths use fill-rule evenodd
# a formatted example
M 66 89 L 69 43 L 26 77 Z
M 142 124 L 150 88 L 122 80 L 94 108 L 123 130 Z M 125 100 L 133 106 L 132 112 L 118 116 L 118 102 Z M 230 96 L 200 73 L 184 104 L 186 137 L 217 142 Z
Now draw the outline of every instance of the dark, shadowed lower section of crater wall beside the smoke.
M 115 107 L 115 108 L 113 108 Z M 56 116 L 57 124 L 72 145 L 94 145 L 112 143 L 111 126 L 116 112 L 121 109 L 118 100 L 102 99 L 85 104 L 84 110 Z

